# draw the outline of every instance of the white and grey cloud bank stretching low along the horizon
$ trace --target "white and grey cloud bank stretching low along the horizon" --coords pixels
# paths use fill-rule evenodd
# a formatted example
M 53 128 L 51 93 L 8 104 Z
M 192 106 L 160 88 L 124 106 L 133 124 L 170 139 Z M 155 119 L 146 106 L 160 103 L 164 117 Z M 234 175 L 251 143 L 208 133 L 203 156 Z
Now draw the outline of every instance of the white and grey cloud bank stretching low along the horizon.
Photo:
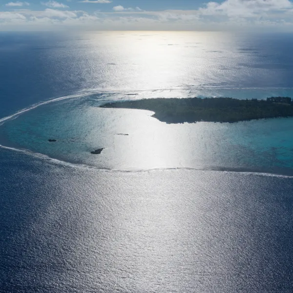
M 83 0 L 110 3 L 109 0 Z M 10 2 L 23 6 L 26 2 Z M 6 5 L 10 4 L 7 3 Z M 101 29 L 101 30 L 283 30 L 293 31 L 293 2 L 290 0 L 209 1 L 196 10 L 144 11 L 115 5 L 112 12 L 59 10 L 67 5 L 45 2 L 43 11 L 0 12 L 0 29 Z

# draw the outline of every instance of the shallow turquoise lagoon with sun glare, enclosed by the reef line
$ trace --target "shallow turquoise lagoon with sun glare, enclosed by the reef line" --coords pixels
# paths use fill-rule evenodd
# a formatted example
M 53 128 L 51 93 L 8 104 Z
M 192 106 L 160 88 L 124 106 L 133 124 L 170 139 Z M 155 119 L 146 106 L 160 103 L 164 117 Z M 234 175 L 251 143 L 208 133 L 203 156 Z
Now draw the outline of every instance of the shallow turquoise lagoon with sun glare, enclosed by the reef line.
M 293 174 L 293 118 L 166 124 L 150 111 L 99 108 L 103 100 L 83 96 L 26 111 L 0 126 L 0 144 L 102 169 Z M 91 154 L 97 148 L 104 150 Z

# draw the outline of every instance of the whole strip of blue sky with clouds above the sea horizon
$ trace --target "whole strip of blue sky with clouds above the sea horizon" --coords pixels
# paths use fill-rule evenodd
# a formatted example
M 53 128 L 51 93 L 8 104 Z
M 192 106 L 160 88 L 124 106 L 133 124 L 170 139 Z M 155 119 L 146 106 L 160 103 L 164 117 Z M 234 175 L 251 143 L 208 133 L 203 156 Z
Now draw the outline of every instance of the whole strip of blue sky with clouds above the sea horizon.
M 0 30 L 293 31 L 292 0 L 0 0 Z

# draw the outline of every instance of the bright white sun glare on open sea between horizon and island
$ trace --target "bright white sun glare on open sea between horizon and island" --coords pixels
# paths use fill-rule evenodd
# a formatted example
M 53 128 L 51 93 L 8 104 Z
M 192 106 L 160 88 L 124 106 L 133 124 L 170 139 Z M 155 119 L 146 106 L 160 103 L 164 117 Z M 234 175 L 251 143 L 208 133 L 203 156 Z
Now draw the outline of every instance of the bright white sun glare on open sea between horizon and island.
M 210 50 L 220 52 L 223 49 L 221 40 L 227 42 L 229 39 L 223 36 L 205 32 L 145 31 L 90 34 L 89 70 L 93 75 L 99 74 L 99 79 L 103 77 L 104 82 L 99 86 L 109 84 L 121 89 L 201 84 L 203 77 L 214 83 L 210 73 L 214 73 L 215 60 L 205 56 Z M 102 51 L 95 51 L 98 45 Z

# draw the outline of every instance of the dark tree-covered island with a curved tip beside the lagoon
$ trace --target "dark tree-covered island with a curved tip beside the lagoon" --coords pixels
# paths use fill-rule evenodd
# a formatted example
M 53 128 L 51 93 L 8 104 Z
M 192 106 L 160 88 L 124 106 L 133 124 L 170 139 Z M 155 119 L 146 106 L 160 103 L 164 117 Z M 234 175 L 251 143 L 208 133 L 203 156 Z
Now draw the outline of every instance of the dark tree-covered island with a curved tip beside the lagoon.
M 267 100 L 160 98 L 107 103 L 101 107 L 150 110 L 155 112 L 153 117 L 167 123 L 237 122 L 293 116 L 293 102 L 289 97 L 271 97 Z

